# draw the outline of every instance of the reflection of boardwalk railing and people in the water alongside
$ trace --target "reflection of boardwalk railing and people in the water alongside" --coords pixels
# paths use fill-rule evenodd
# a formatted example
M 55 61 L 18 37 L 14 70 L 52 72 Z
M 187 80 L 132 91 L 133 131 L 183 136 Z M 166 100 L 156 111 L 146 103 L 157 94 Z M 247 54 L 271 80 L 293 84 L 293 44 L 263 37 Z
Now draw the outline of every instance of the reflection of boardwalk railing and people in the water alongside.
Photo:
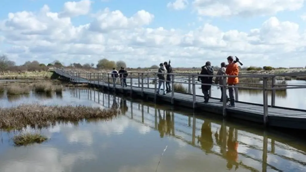
M 130 103 L 125 99 L 96 91 L 83 90 L 88 99 L 105 107 L 112 107 L 114 99 L 125 115 L 159 132 L 161 137 L 175 137 L 182 143 L 214 154 L 227 160 L 224 168 L 244 168 L 250 171 L 304 171 L 306 170 L 305 148 L 290 146 L 285 139 L 268 136 L 263 131 L 196 118 L 195 115 L 181 115 L 169 107 Z M 73 94 L 80 98 L 79 89 Z M 78 95 L 77 95 L 77 94 Z M 84 94 L 82 94 L 84 95 Z M 86 94 L 85 94 L 86 95 Z M 126 109 L 129 107 L 128 109 Z M 302 150 L 300 150 L 302 149 Z M 259 167 L 260 166 L 260 167 Z

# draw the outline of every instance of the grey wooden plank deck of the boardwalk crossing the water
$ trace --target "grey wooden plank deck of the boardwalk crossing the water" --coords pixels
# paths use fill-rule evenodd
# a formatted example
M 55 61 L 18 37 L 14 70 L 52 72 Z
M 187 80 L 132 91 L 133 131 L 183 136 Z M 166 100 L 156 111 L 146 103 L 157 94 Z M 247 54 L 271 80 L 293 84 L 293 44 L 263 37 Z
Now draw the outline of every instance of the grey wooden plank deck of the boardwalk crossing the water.
M 102 81 L 89 81 L 84 78 L 72 76 L 62 70 L 55 69 L 61 77 L 72 79 L 75 83 L 90 84 L 93 87 L 103 90 L 114 90 L 118 93 L 128 94 L 130 96 L 139 96 L 142 99 L 155 100 L 157 103 L 172 103 L 174 106 L 182 106 L 201 110 L 203 112 L 211 112 L 215 114 L 223 113 L 223 103 L 218 99 L 210 99 L 209 103 L 204 103 L 203 96 L 196 95 L 195 106 L 193 103 L 193 95 L 184 93 L 174 93 L 172 99 L 171 93 L 166 95 L 155 95 L 154 88 L 141 88 L 127 86 L 122 88 L 119 84 L 114 85 L 103 83 Z M 174 102 L 173 102 L 174 101 Z M 247 121 L 263 123 L 264 108 L 263 105 L 255 103 L 236 102 L 235 107 L 226 107 L 227 117 L 240 118 Z M 306 110 L 284 108 L 284 107 L 268 107 L 268 126 L 291 128 L 291 129 L 306 129 Z

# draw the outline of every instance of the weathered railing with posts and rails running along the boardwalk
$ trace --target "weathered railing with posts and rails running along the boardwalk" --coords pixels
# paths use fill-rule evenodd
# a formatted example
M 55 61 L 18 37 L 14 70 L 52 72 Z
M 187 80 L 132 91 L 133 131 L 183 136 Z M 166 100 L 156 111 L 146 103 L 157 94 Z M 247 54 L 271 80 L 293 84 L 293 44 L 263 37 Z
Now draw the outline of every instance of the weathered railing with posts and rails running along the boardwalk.
M 100 72 L 100 73 L 91 73 L 91 72 L 86 72 L 86 71 L 74 71 L 74 70 L 67 70 L 67 69 L 56 69 L 59 70 L 60 72 L 67 73 L 71 76 L 72 81 L 79 82 L 81 80 L 86 80 L 88 83 L 93 83 L 94 81 L 98 82 L 98 85 L 102 85 L 104 87 L 105 84 L 110 87 L 110 84 L 113 84 L 114 89 L 122 89 L 122 86 L 118 86 L 117 84 L 112 82 L 112 73 L 105 73 L 105 72 Z M 124 74 L 124 73 L 121 73 Z M 144 88 L 150 88 L 150 84 L 154 84 L 154 90 L 155 90 L 155 100 L 157 97 L 157 90 L 158 90 L 158 74 L 165 74 L 165 73 L 157 73 L 157 72 L 127 72 L 128 76 L 126 78 L 123 77 L 118 77 L 121 81 L 122 79 L 130 80 L 129 86 L 131 89 L 131 92 L 133 90 L 133 87 L 139 87 L 141 88 L 141 92 L 144 92 Z M 188 93 L 192 95 L 192 103 L 193 103 L 193 108 L 196 107 L 196 85 L 211 85 L 211 86 L 217 86 L 220 88 L 223 88 L 223 116 L 226 116 L 226 108 L 227 108 L 227 97 L 226 97 L 226 88 L 233 88 L 235 90 L 235 101 L 238 102 L 238 90 L 240 89 L 249 89 L 249 90 L 261 90 L 263 91 L 263 123 L 266 125 L 267 124 L 267 117 L 268 117 L 268 107 L 276 107 L 275 106 L 275 95 L 276 95 L 276 90 L 286 90 L 286 89 L 300 89 L 300 88 L 306 88 L 306 85 L 284 85 L 284 84 L 277 84 L 276 82 L 276 77 L 280 76 L 305 76 L 306 72 L 298 72 L 298 73 L 283 73 L 283 74 L 275 74 L 275 75 L 264 75 L 264 74 L 241 74 L 238 76 L 230 76 L 230 75 L 200 75 L 200 74 L 195 74 L 195 73 L 167 73 L 167 75 L 170 75 L 171 81 L 171 103 L 174 104 L 174 84 L 188 84 Z M 122 75 L 123 76 L 123 75 Z M 166 76 L 166 74 L 165 74 Z M 222 78 L 222 84 L 203 84 L 197 81 L 198 77 L 221 77 Z M 238 77 L 238 78 L 257 78 L 262 80 L 262 84 L 259 83 L 239 83 L 237 85 L 227 85 L 227 79 L 230 77 Z M 137 79 L 138 82 L 134 86 L 133 84 L 133 79 Z M 186 82 L 183 81 L 176 81 L 176 80 L 185 80 Z M 146 80 L 146 82 L 144 82 Z M 116 79 L 117 81 L 117 79 Z M 150 82 L 151 81 L 151 82 Z M 268 83 L 268 81 L 271 82 L 271 84 Z M 101 83 L 102 82 L 102 83 Z M 262 87 L 250 87 L 250 86 L 240 86 L 240 85 L 262 85 Z M 268 92 L 271 91 L 271 105 L 268 104 Z M 213 99 L 216 99 L 211 96 L 211 90 L 209 91 L 209 96 Z M 258 104 L 259 105 L 259 104 Z

